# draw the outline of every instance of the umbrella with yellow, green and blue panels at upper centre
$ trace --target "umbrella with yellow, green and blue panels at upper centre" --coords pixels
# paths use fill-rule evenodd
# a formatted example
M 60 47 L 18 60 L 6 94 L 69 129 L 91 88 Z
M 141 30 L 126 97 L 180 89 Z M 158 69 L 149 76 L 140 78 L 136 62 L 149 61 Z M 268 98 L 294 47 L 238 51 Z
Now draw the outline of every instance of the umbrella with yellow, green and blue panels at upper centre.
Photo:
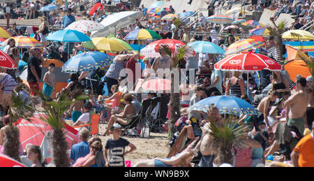
M 126 37 L 124 37 L 125 40 L 158 40 L 161 39 L 161 36 L 157 34 L 155 31 L 151 31 L 150 29 L 137 29 L 134 31 L 130 31 Z

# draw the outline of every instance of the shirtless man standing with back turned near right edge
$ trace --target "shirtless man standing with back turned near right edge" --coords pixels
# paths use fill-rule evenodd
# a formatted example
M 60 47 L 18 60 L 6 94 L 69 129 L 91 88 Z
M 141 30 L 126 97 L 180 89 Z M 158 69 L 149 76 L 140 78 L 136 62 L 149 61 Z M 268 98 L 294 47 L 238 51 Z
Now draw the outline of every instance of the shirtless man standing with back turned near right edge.
M 297 93 L 290 96 L 287 101 L 283 103 L 283 106 L 289 109 L 288 126 L 297 126 L 300 133 L 304 133 L 304 129 L 308 128 L 304 115 L 306 113 L 306 107 L 308 106 L 308 94 L 305 91 L 306 78 L 297 78 L 296 91 Z

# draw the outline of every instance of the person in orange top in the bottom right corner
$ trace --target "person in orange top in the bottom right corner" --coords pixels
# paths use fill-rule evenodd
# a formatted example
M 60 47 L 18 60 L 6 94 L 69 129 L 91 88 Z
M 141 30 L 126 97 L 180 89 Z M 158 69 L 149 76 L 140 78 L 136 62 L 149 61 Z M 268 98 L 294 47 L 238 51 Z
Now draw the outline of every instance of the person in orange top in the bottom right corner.
M 314 124 L 312 132 L 301 138 L 291 153 L 291 161 L 295 167 L 314 166 Z

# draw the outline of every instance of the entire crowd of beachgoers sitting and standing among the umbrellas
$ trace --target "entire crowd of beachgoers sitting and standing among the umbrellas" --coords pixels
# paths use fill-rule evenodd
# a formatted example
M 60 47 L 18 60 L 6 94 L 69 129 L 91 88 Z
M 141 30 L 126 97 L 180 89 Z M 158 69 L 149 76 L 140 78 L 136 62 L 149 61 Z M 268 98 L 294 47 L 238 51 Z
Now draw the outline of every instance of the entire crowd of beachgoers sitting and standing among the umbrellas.
M 209 15 L 214 13 L 213 6 L 218 3 L 220 6 L 232 5 L 234 1 L 206 1 L 209 5 Z M 108 4 L 109 2 L 106 2 Z M 111 1 L 110 1 L 111 3 Z M 192 1 L 188 1 L 192 3 Z M 38 9 L 40 6 L 47 5 L 45 2 L 40 5 L 40 2 L 31 3 L 17 3 L 17 14 L 26 13 L 26 18 L 38 17 Z M 160 56 L 156 58 L 144 57 L 142 61 L 145 64 L 143 73 L 139 78 L 135 76 L 121 76 L 121 71 L 124 68 L 130 69 L 133 75 L 136 75 L 137 60 L 140 55 L 137 51 L 121 51 L 114 57 L 112 64 L 107 71 L 103 68 L 96 68 L 92 71 L 82 71 L 77 73 L 70 73 L 68 85 L 61 89 L 61 92 L 56 92 L 56 76 L 54 75 L 55 64 L 47 65 L 48 71 L 42 76 L 42 66 L 46 64 L 47 59 L 59 59 L 66 62 L 70 57 L 75 56 L 78 52 L 91 51 L 87 48 L 82 48 L 80 43 L 50 43 L 45 40 L 45 36 L 49 33 L 47 25 L 57 25 L 60 28 L 66 28 L 69 24 L 75 22 L 77 13 L 88 11 L 80 1 L 72 1 L 65 8 L 52 10 L 49 12 L 50 19 L 42 17 L 40 27 L 35 32 L 34 37 L 38 35 L 38 39 L 43 43 L 44 48 L 30 48 L 29 50 L 19 50 L 15 46 L 15 40 L 10 38 L 8 45 L 3 49 L 15 62 L 19 65 L 17 70 L 1 68 L 0 85 L 1 91 L 1 113 L 3 117 L 3 127 L 0 129 L 0 152 L 3 152 L 4 129 L 8 125 L 8 106 L 10 106 L 11 94 L 18 94 L 22 96 L 23 100 L 27 102 L 31 97 L 37 97 L 38 92 L 43 94 L 50 100 L 57 100 L 60 94 L 69 92 L 73 104 L 66 113 L 66 117 L 72 119 L 72 126 L 80 127 L 80 143 L 71 145 L 69 159 L 72 161 L 73 167 L 89 167 L 89 166 L 125 166 L 124 157 L 126 154 L 137 149 L 136 145 L 130 143 L 127 139 L 121 138 L 122 129 L 125 125 L 133 122 L 134 115 L 139 115 L 142 108 L 144 108 L 144 99 L 141 94 L 134 92 L 139 78 L 149 80 L 158 75 L 160 69 L 165 68 L 188 68 L 194 71 L 196 78 L 186 76 L 184 85 L 181 87 L 181 101 L 188 101 L 188 106 L 193 106 L 195 103 L 206 99 L 210 96 L 236 96 L 251 103 L 257 110 L 259 115 L 241 115 L 238 117 L 237 124 L 246 124 L 248 126 L 246 136 L 241 138 L 244 144 L 240 147 L 234 147 L 234 164 L 232 166 L 257 166 L 258 164 L 267 164 L 269 156 L 274 156 L 271 166 L 278 166 L 280 161 L 286 166 L 314 166 L 313 159 L 313 78 L 308 76 L 306 78 L 297 75 L 296 81 L 290 80 L 287 71 L 260 71 L 261 82 L 259 87 L 255 87 L 255 92 L 247 94 L 246 84 L 251 84 L 253 81 L 253 73 L 250 73 L 248 79 L 246 75 L 239 71 L 220 71 L 214 68 L 220 57 L 219 55 L 197 53 L 184 57 L 179 61 L 179 65 L 174 67 L 172 57 L 167 54 L 167 46 L 161 45 L 158 48 Z M 280 13 L 291 13 L 296 17 L 296 23 L 292 25 L 291 29 L 299 29 L 302 25 L 313 20 L 314 4 L 309 1 L 252 1 L 252 10 L 263 10 L 269 8 L 277 10 L 274 18 L 278 17 Z M 3 6 L 2 6 L 3 7 Z M 234 36 L 236 32 L 241 34 L 248 34 L 244 29 L 228 29 L 225 37 L 215 36 L 213 34 L 220 32 L 224 27 L 220 24 L 208 23 L 206 17 L 200 13 L 197 22 L 184 27 L 184 29 L 177 29 L 175 20 L 172 21 L 151 21 L 151 14 L 147 13 L 147 8 L 144 5 L 135 7 L 132 3 L 124 4 L 122 1 L 118 4 L 119 10 L 140 10 L 143 11 L 144 16 L 135 23 L 130 24 L 125 29 L 117 31 L 116 38 L 123 39 L 127 30 L 136 29 L 151 29 L 157 31 L 163 38 L 174 38 L 175 33 L 178 32 L 179 40 L 184 43 L 193 41 L 210 41 L 219 45 L 221 48 L 227 48 L 229 45 L 237 41 Z M 19 9 L 20 8 L 20 9 Z M 169 13 L 178 13 L 170 6 L 160 10 L 158 15 L 163 17 Z M 61 20 L 59 13 L 64 15 Z M 89 20 L 97 20 L 106 15 L 107 9 L 103 13 L 97 12 L 97 15 L 86 17 Z M 185 10 L 184 10 L 185 12 Z M 29 32 L 25 29 L 17 29 L 16 23 L 13 22 L 9 31 L 15 35 L 27 35 Z M 47 32 L 48 31 L 48 32 Z M 313 33 L 314 26 L 311 28 Z M 197 32 L 197 33 L 195 33 Z M 207 35 L 204 33 L 211 33 Z M 90 32 L 87 33 L 90 36 Z M 260 47 L 259 52 L 271 57 L 278 63 L 282 64 L 284 61 L 282 55 L 278 55 L 278 39 L 269 36 L 266 38 L 264 45 Z M 144 43 L 150 43 L 145 41 Z M 136 41 L 128 42 L 136 44 Z M 275 50 L 275 51 L 274 51 Z M 22 52 L 20 59 L 19 52 Z M 309 57 L 313 61 L 313 57 Z M 27 66 L 27 84 L 22 89 L 17 89 L 17 85 L 24 84 L 19 78 L 20 71 L 24 66 Z M 21 66 L 21 67 L 20 67 Z M 142 70 L 140 70 L 142 71 Z M 188 73 L 191 73 L 189 71 Z M 202 78 L 204 75 L 204 78 Z M 169 75 L 165 75 L 167 78 Z M 91 78 L 89 80 L 87 77 Z M 96 80 L 95 80 L 96 79 Z M 43 80 L 43 89 L 40 89 L 39 83 Z M 128 83 L 131 83 L 130 89 Z M 254 81 L 253 81 L 254 83 Z M 195 86 L 194 86 L 195 85 Z M 107 91 L 104 91 L 104 88 Z M 250 90 L 251 91 L 251 90 Z M 77 95 L 89 94 L 89 100 L 76 101 Z M 257 92 L 260 92 L 258 94 Z M 148 92 L 148 99 L 156 97 L 165 97 L 169 94 L 156 94 L 156 92 Z M 142 100 L 143 99 L 143 100 Z M 147 98 L 145 98 L 147 99 Z M 169 100 L 167 100 L 169 103 Z M 39 106 L 41 102 L 37 103 Z M 90 122 L 90 111 L 96 110 L 100 114 L 100 122 L 107 124 L 107 129 L 103 136 L 110 136 L 106 143 L 98 137 L 89 138 L 88 126 L 84 126 Z M 170 112 L 170 110 L 168 110 Z M 195 166 L 212 167 L 217 164 L 217 155 L 211 143 L 213 137 L 211 136 L 211 129 L 209 122 L 204 117 L 203 113 L 186 110 L 181 108 L 181 118 L 186 122 L 185 126 L 192 126 L 193 136 L 197 138 L 190 143 L 183 152 L 176 154 L 169 159 L 155 158 L 149 160 L 139 161 L 135 166 L 191 166 L 190 162 L 200 154 L 200 163 Z M 211 105 L 209 108 L 209 115 L 214 122 L 219 125 L 223 115 L 218 113 L 218 108 Z M 169 117 L 167 117 L 169 118 Z M 165 120 L 166 121 L 166 120 Z M 167 122 L 163 122 L 167 124 Z M 183 125 L 183 126 L 184 126 Z M 177 131 L 181 131 L 183 126 L 177 126 Z M 141 131 L 139 128 L 138 131 Z M 142 129 L 143 131 L 143 129 Z M 288 134 L 289 138 L 284 137 L 283 133 Z M 311 132 L 311 133 L 310 133 Z M 137 132 L 138 133 L 138 132 Z M 135 134 L 136 135 L 136 134 Z M 103 146 L 105 145 L 105 146 Z M 126 151 L 126 147 L 129 150 Z M 108 154 L 109 152 L 109 154 Z M 158 155 L 156 155 L 158 156 Z M 27 148 L 27 158 L 31 161 L 31 166 L 43 166 L 40 148 L 38 146 L 30 146 Z

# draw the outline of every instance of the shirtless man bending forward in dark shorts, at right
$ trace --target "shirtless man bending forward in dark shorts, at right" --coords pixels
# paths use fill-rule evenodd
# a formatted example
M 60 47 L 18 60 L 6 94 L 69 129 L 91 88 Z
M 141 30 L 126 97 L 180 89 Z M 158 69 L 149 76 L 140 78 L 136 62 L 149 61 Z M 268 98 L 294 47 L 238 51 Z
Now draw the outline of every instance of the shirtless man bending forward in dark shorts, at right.
M 265 120 L 266 122 L 267 132 L 271 131 L 271 126 L 269 125 L 268 118 L 267 118 L 269 114 L 269 104 L 271 103 L 271 101 L 276 101 L 278 96 L 279 96 L 278 92 L 274 90 L 270 93 L 269 96 L 264 97 L 264 99 L 260 101 L 260 104 L 258 104 L 257 110 L 259 110 L 260 113 L 262 114 L 252 116 L 253 124 L 256 131 L 260 131 L 260 129 L 258 128 L 258 123 L 262 122 L 263 120 Z

